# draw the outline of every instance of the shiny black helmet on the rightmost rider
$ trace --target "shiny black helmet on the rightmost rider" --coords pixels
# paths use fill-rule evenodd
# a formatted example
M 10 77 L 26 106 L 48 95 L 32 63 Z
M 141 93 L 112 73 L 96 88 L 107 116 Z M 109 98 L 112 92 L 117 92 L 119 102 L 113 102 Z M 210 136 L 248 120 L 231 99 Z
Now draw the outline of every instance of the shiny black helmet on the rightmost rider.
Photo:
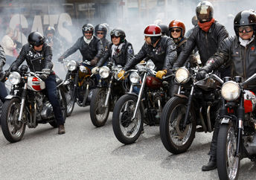
M 238 34 L 238 28 L 240 26 L 252 25 L 254 34 L 256 32 L 256 14 L 251 10 L 243 10 L 237 13 L 237 16 L 234 18 L 234 32 Z

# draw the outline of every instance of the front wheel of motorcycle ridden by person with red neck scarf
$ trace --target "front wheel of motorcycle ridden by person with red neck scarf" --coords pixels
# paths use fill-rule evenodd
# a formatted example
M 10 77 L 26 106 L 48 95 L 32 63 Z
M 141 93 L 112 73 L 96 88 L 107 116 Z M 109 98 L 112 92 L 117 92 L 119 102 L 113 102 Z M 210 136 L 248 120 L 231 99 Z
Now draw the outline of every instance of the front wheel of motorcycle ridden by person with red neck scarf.
M 188 100 L 181 97 L 172 97 L 164 106 L 160 119 L 161 142 L 167 151 L 179 154 L 191 147 L 196 133 L 195 115 L 191 110 L 190 123 L 181 129 L 185 118 Z

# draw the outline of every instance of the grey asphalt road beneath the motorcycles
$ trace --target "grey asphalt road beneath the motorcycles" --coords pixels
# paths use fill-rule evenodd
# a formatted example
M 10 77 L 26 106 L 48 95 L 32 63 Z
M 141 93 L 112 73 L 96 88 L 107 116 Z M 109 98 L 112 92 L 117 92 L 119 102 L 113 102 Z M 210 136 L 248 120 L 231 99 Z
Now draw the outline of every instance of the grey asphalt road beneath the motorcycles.
M 10 144 L 0 132 L 0 179 L 218 179 L 217 170 L 202 172 L 208 162 L 211 134 L 197 133 L 191 148 L 172 155 L 161 144 L 158 126 L 144 126 L 135 144 L 124 146 L 106 125 L 95 128 L 89 107 L 75 107 L 65 135 L 49 124 L 26 129 Z M 240 179 L 255 179 L 256 165 L 243 159 Z

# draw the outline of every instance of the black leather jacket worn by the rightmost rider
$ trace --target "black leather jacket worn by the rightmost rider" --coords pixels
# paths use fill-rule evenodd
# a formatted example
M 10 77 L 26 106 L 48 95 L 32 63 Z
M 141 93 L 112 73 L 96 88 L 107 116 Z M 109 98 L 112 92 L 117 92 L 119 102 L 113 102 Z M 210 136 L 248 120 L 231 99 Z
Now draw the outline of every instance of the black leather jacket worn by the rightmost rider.
M 209 72 L 220 68 L 223 64 L 231 67 L 231 77 L 240 76 L 245 79 L 251 77 L 256 73 L 256 40 L 254 39 L 245 48 L 240 45 L 237 36 L 226 38 L 217 53 L 208 60 L 202 69 Z M 253 86 L 256 88 L 256 83 L 254 84 Z

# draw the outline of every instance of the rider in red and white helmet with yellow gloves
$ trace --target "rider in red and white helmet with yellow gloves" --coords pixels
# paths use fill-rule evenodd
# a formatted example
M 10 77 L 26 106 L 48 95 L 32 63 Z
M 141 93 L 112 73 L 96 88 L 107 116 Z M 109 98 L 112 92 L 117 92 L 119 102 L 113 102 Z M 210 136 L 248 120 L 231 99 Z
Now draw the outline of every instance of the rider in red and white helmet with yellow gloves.
M 144 30 L 145 43 L 141 50 L 129 60 L 124 69 L 119 72 L 118 77 L 124 79 L 124 73 L 133 65 L 136 65 L 145 57 L 153 60 L 156 65 L 156 77 L 162 78 L 167 74 L 167 70 L 170 69 L 177 57 L 176 45 L 170 37 L 161 36 L 161 28 L 158 25 L 148 25 Z

